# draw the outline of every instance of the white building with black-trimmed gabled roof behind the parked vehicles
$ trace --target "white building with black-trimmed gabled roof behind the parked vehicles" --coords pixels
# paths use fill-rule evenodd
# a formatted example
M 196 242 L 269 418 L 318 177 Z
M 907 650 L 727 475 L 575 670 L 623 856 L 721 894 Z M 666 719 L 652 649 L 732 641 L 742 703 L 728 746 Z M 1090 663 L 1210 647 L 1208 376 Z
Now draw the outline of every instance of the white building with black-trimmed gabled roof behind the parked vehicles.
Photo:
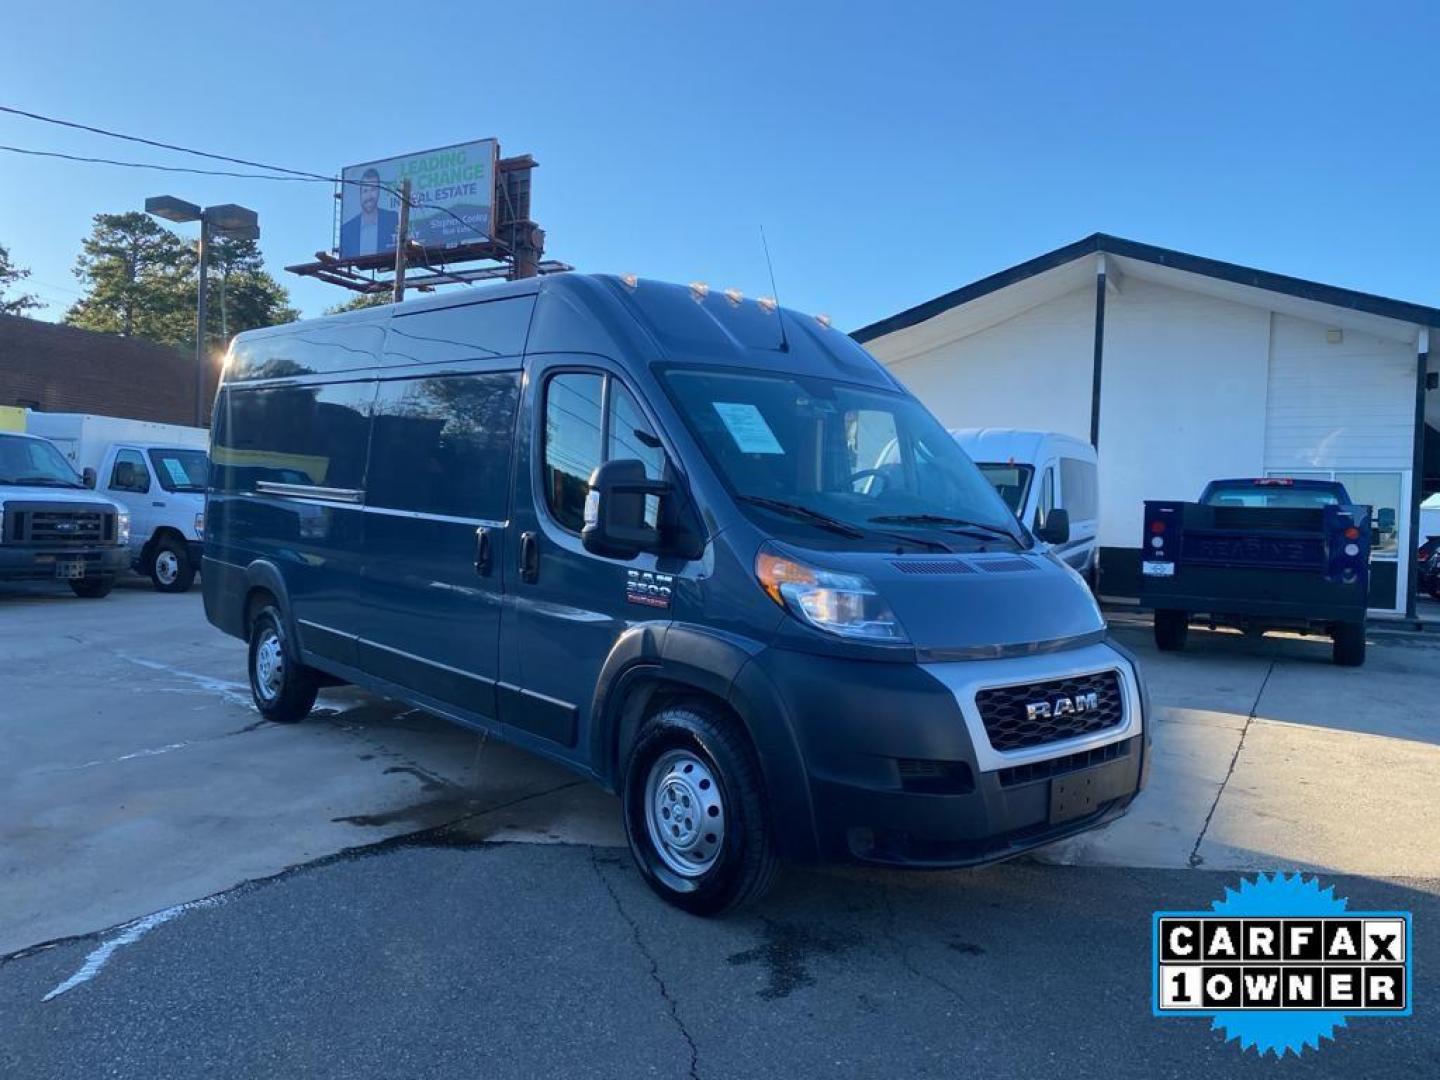
M 1414 613 L 1418 503 L 1440 490 L 1437 308 L 1096 233 L 854 336 L 949 428 L 1096 445 L 1107 595 L 1135 595 L 1146 498 L 1333 477 L 1381 527 L 1372 609 Z

